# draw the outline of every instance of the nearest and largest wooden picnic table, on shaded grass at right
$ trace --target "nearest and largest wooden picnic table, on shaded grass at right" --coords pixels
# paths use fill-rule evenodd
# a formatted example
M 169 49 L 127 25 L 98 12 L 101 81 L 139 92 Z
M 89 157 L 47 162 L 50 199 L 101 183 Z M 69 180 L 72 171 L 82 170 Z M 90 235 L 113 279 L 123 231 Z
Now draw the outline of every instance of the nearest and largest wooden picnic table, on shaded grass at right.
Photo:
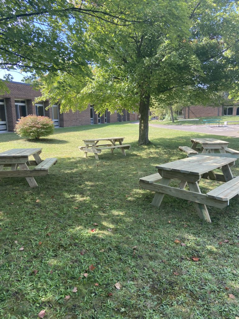
M 170 163 L 157 165 L 158 173 L 140 179 L 143 189 L 155 191 L 152 205 L 159 207 L 164 194 L 192 201 L 201 219 L 211 222 L 206 205 L 224 208 L 228 206 L 229 199 L 238 196 L 239 176 L 232 175 L 230 163 L 235 158 L 217 157 L 210 155 L 196 155 L 179 159 Z M 221 168 L 223 174 L 214 173 Z M 199 188 L 201 178 L 224 182 L 221 186 L 202 194 Z M 178 188 L 169 186 L 170 181 L 180 181 Z M 159 182 L 157 184 L 156 182 Z M 190 190 L 185 190 L 186 183 Z

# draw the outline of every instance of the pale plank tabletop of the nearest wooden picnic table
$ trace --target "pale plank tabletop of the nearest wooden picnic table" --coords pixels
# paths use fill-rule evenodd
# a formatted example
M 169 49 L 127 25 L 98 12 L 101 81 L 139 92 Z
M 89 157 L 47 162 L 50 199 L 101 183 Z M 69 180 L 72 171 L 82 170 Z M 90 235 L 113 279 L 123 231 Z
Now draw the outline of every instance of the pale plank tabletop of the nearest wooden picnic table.
M 173 162 L 157 165 L 156 168 L 185 174 L 201 175 L 234 161 L 235 158 L 195 155 L 185 159 L 178 159 Z

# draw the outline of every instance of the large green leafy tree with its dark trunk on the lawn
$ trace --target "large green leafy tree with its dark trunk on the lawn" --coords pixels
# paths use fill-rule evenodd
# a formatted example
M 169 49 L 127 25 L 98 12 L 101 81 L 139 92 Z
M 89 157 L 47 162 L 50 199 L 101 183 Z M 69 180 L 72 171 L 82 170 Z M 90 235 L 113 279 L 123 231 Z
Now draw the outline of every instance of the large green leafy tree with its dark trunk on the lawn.
M 137 25 L 87 25 L 84 36 L 97 51 L 91 77 L 59 72 L 43 79 L 45 98 L 62 111 L 94 104 L 139 110 L 139 144 L 149 143 L 148 110 L 159 99 L 170 104 L 190 88 L 194 100 L 229 90 L 238 81 L 237 1 L 148 0 Z M 187 90 L 188 92 L 188 90 Z

